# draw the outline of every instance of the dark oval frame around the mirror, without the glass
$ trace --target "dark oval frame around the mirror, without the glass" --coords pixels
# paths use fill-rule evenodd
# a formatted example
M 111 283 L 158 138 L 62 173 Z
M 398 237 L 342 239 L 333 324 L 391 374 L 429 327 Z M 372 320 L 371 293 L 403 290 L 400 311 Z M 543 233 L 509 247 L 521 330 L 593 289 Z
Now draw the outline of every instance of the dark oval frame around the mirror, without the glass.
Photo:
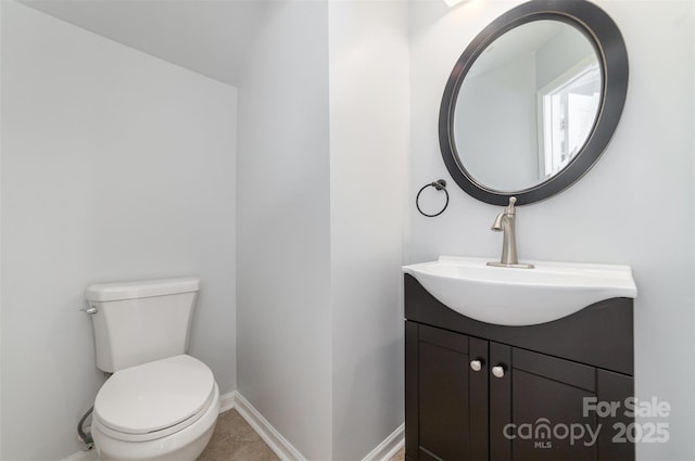
M 557 175 L 519 191 L 498 191 L 476 181 L 462 165 L 453 137 L 458 90 L 475 61 L 503 34 L 534 21 L 560 21 L 574 26 L 592 42 L 602 64 L 602 97 L 594 127 L 584 146 Z M 456 183 L 469 195 L 492 204 L 517 205 L 555 195 L 579 180 L 598 159 L 618 126 L 628 92 L 628 52 L 616 23 L 597 5 L 585 0 L 532 0 L 504 13 L 485 27 L 466 48 L 448 77 L 439 114 L 439 141 L 444 164 Z M 504 165 L 501 165 L 504 168 Z

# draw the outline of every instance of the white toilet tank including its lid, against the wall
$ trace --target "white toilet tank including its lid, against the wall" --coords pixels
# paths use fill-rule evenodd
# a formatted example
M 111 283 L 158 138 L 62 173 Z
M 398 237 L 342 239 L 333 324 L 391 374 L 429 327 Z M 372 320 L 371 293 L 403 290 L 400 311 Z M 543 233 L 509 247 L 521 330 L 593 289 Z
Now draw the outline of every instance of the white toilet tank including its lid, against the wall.
M 186 354 L 199 290 L 195 278 L 88 286 L 97 367 L 113 373 Z

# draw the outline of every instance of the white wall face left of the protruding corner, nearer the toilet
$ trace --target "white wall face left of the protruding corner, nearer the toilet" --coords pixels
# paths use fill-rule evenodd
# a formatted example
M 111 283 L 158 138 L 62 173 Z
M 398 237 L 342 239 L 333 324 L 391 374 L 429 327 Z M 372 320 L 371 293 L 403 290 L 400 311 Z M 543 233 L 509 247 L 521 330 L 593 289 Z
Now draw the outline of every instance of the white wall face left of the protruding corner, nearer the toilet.
M 332 454 L 327 14 L 269 2 L 239 86 L 239 392 L 309 460 Z

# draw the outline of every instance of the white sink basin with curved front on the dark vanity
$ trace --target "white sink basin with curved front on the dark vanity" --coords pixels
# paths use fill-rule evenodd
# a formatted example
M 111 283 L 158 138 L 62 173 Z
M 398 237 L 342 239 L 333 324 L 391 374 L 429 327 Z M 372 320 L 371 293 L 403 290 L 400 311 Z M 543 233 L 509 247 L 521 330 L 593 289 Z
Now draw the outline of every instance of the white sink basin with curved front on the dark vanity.
M 446 307 L 482 322 L 532 325 L 612 297 L 637 296 L 629 266 L 523 261 L 534 269 L 486 266 L 494 258 L 440 256 L 403 266 Z

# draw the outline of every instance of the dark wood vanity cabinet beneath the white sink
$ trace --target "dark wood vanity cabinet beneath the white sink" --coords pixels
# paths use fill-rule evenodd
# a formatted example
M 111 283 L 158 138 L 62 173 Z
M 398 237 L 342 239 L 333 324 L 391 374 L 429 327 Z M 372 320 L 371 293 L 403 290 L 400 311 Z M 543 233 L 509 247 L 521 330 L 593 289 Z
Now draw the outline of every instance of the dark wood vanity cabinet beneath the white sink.
M 405 292 L 407 460 L 634 460 L 632 299 L 502 326 Z

